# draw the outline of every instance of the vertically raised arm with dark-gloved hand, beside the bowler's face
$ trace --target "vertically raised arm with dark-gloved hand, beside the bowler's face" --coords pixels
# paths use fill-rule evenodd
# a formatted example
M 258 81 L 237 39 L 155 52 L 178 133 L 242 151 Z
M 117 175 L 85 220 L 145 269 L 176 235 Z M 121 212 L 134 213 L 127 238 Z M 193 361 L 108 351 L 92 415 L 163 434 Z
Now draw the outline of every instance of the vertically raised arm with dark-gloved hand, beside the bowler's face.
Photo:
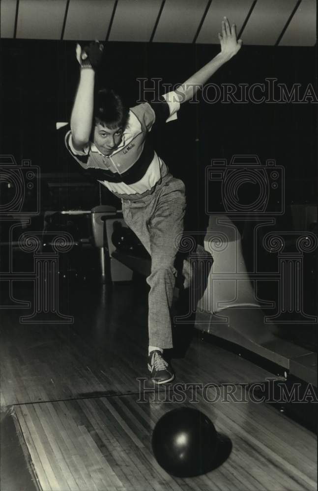
M 102 45 L 98 43 L 98 46 L 96 46 L 97 43 L 90 43 L 86 51 L 83 51 L 79 44 L 76 46 L 76 57 L 81 66 L 81 73 L 70 123 L 72 143 L 77 150 L 81 150 L 87 144 L 93 122 L 94 68 L 97 63 L 95 63 L 96 53 L 93 53 L 92 50 L 96 51 L 97 49 L 100 57 L 103 51 Z

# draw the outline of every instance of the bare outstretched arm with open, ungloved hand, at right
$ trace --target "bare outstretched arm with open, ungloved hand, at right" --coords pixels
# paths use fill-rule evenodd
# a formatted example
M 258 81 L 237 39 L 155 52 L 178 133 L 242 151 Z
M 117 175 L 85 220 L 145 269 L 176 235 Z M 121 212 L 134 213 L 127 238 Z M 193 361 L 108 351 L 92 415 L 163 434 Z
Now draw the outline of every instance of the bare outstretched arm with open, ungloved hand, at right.
M 202 89 L 203 84 L 224 63 L 229 61 L 232 56 L 236 55 L 242 46 L 241 39 L 236 41 L 235 24 L 232 24 L 230 27 L 226 17 L 224 17 L 224 21 L 222 21 L 222 34 L 219 32 L 218 36 L 221 43 L 221 52 L 175 90 L 180 103 L 192 99 L 197 90 Z

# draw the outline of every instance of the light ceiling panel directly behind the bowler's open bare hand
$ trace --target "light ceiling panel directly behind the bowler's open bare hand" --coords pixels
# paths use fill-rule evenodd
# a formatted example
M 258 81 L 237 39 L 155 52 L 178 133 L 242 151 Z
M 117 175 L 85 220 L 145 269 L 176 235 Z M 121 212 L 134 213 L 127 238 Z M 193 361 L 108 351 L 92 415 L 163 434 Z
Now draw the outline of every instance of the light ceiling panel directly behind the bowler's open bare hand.
M 200 29 L 197 43 L 220 44 L 218 32 L 221 32 L 223 17 L 229 19 L 230 24 L 236 25 L 239 33 L 253 0 L 213 0 Z

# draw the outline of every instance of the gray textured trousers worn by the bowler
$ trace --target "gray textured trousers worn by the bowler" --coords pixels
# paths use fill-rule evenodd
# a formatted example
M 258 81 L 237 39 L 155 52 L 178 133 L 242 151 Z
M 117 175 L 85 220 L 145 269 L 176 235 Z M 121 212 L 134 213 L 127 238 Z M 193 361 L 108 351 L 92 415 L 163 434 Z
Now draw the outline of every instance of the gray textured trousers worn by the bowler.
M 173 347 L 170 308 L 177 276 L 174 260 L 183 233 L 185 208 L 184 183 L 171 174 L 142 200 L 122 200 L 125 222 L 151 256 L 151 273 L 146 279 L 150 286 L 149 345 L 163 349 Z M 190 283 L 188 261 L 183 262 L 182 275 L 187 287 Z

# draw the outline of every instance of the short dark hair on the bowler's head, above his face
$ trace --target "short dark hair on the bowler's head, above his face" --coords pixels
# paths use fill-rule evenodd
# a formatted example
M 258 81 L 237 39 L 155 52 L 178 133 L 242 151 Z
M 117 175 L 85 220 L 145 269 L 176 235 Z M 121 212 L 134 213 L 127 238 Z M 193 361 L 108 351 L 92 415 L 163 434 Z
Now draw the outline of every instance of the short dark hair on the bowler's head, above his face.
M 108 128 L 125 128 L 129 115 L 120 95 L 113 89 L 101 89 L 94 101 L 95 124 L 106 125 Z

